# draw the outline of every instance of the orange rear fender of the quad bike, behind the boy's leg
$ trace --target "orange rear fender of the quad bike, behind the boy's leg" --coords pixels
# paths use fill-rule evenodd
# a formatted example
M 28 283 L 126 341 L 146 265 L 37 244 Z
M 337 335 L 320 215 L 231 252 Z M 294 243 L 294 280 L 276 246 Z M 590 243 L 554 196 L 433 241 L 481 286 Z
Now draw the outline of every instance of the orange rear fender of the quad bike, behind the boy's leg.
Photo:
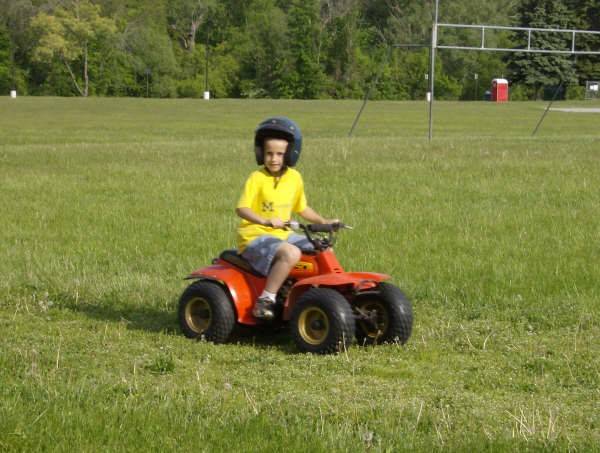
M 186 279 L 212 280 L 218 283 L 228 293 L 237 321 L 246 325 L 258 324 L 252 316 L 252 307 L 254 301 L 264 289 L 264 279 L 222 264 L 213 264 L 195 270 Z

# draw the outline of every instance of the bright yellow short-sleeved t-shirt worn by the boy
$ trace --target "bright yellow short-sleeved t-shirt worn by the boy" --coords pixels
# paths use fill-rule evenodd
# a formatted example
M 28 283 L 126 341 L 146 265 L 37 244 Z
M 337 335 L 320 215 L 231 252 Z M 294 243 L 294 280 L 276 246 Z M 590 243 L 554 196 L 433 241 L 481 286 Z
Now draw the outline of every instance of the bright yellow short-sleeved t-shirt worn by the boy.
M 284 222 L 290 220 L 292 212 L 302 212 L 306 206 L 302 176 L 289 167 L 279 178 L 275 178 L 264 168 L 252 172 L 237 204 L 238 208 L 250 208 L 265 219 L 277 217 Z M 263 234 L 287 239 L 291 231 L 242 219 L 238 227 L 239 251 L 244 251 L 250 242 Z

